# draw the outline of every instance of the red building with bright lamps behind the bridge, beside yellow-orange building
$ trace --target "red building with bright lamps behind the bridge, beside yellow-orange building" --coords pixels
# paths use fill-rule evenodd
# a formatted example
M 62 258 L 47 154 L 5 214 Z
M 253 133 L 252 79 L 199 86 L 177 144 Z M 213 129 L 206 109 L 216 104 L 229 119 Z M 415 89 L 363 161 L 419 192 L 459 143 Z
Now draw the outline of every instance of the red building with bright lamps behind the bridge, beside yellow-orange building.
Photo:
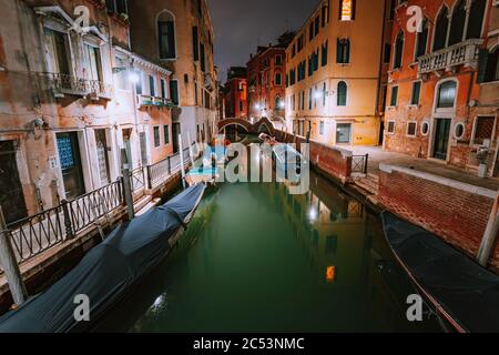
M 247 62 L 248 116 L 284 121 L 286 91 L 286 47 L 293 33 L 286 32 L 277 44 L 258 47 Z

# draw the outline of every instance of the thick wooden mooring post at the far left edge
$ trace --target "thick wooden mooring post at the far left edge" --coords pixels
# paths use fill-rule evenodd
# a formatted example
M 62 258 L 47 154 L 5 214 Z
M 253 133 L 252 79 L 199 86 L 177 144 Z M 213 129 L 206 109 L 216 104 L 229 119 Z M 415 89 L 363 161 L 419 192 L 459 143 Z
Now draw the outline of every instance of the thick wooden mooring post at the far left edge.
M 24 303 L 28 293 L 22 281 L 21 271 L 16 260 L 10 231 L 7 229 L 3 211 L 0 206 L 0 261 L 9 283 L 10 293 L 14 303 L 19 306 Z

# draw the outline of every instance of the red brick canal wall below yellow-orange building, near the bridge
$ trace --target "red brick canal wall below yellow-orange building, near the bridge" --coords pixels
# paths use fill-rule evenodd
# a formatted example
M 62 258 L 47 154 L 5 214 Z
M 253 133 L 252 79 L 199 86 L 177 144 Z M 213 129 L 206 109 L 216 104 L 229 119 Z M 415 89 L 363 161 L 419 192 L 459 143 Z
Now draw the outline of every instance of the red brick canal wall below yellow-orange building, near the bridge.
M 304 138 L 295 138 L 283 131 L 276 130 L 275 134 L 281 142 L 296 142 L 297 149 L 301 149 L 299 144 L 306 142 Z M 343 184 L 349 182 L 352 175 L 352 152 L 349 151 L 310 141 L 310 163 L 328 178 Z

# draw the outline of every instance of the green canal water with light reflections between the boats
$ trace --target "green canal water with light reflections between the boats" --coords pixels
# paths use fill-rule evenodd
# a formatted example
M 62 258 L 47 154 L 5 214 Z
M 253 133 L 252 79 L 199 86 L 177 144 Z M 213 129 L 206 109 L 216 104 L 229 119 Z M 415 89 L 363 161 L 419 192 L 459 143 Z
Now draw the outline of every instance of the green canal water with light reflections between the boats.
M 414 293 L 379 217 L 312 173 L 283 183 L 222 184 L 179 248 L 99 332 L 438 332 L 409 323 Z

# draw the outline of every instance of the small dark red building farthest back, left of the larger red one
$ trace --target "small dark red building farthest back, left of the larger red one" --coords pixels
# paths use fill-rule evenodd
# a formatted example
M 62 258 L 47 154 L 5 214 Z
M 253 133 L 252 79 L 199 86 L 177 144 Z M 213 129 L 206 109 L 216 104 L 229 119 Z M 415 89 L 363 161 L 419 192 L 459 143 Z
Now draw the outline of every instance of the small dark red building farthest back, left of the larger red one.
M 246 68 L 231 67 L 225 83 L 225 118 L 247 119 Z

